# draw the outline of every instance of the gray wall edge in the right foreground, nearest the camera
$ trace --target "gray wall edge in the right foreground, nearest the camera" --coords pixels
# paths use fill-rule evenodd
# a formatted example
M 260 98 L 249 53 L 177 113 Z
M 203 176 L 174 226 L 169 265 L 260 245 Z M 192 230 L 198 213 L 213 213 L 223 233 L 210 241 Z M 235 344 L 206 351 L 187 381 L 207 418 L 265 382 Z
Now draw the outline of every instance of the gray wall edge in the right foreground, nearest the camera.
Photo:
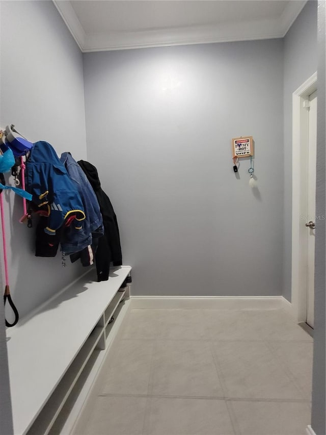
M 318 102 L 317 102 L 317 171 L 316 215 L 325 213 L 325 145 L 326 145 L 326 86 L 325 86 L 325 3 L 318 2 Z M 315 252 L 315 312 L 314 312 L 314 359 L 311 426 L 317 435 L 326 433 L 325 422 L 325 221 L 316 221 Z

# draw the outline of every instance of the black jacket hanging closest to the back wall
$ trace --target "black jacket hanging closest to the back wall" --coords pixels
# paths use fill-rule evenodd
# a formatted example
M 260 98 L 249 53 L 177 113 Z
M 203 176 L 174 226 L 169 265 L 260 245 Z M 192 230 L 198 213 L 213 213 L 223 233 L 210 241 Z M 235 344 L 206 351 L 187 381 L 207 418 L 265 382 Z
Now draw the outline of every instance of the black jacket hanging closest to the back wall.
M 103 218 L 104 235 L 98 239 L 95 263 L 98 281 L 106 281 L 110 271 L 110 263 L 113 262 L 114 266 L 120 266 L 122 264 L 117 216 L 113 210 L 110 199 L 101 188 L 95 166 L 84 160 L 79 160 L 77 163 L 85 172 L 95 192 Z

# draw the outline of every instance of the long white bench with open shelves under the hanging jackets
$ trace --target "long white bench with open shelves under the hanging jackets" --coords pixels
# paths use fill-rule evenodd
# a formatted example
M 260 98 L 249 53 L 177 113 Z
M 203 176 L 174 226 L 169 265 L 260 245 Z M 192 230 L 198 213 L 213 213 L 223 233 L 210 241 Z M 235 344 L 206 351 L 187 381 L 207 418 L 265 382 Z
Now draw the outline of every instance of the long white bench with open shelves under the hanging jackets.
M 92 354 L 105 349 L 109 321 L 128 296 L 128 287 L 119 289 L 130 271 L 112 268 L 109 279 L 97 283 L 93 269 L 7 329 L 15 435 L 50 431 Z

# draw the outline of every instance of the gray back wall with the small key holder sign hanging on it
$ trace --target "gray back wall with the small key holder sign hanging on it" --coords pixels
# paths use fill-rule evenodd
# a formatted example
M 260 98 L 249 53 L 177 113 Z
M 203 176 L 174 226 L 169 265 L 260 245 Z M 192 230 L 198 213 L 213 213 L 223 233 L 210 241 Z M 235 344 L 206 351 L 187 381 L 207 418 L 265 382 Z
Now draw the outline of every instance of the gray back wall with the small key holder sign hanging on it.
M 84 79 L 133 294 L 281 294 L 283 40 L 89 53 Z M 259 189 L 233 173 L 241 135 Z

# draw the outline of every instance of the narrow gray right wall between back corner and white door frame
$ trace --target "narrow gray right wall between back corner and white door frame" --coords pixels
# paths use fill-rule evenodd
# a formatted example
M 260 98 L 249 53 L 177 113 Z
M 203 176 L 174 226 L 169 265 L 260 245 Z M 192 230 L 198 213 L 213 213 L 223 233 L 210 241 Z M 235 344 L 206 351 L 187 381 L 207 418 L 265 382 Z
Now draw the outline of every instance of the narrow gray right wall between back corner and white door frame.
M 284 38 L 283 296 L 291 300 L 292 93 L 317 71 L 317 2 L 309 1 Z

